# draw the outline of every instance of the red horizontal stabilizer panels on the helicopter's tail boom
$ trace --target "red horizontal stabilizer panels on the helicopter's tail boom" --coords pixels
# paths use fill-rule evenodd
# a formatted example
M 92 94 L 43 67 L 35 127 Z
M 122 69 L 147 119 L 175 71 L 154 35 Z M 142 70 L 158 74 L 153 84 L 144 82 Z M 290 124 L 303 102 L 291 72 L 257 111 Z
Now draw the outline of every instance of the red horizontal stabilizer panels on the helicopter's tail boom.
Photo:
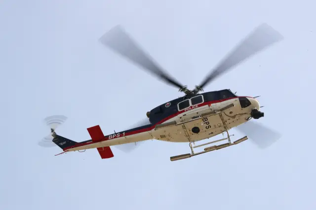
M 100 125 L 89 127 L 87 128 L 87 130 L 91 136 L 92 142 L 96 142 L 96 141 L 100 141 L 104 139 L 104 135 L 100 128 Z M 102 159 L 114 157 L 114 154 L 110 147 L 103 147 L 103 148 L 101 147 L 101 148 L 97 148 L 97 150 Z

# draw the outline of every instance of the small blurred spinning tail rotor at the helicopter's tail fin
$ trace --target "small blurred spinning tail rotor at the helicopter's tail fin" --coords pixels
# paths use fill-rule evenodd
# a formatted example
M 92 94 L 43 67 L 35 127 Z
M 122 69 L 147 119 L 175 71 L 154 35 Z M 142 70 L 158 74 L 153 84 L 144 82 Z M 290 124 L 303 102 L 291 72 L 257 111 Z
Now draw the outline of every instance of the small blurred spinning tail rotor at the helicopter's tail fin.
M 59 125 L 63 124 L 66 120 L 67 120 L 67 117 L 63 115 L 53 115 L 53 116 L 45 118 L 44 122 L 50 129 L 53 129 L 54 131 Z M 41 141 L 38 142 L 38 145 L 40 147 L 45 147 L 45 148 L 55 147 L 56 145 L 52 142 L 53 137 L 51 136 L 51 134 L 52 132 L 50 130 L 50 134 L 42 138 Z

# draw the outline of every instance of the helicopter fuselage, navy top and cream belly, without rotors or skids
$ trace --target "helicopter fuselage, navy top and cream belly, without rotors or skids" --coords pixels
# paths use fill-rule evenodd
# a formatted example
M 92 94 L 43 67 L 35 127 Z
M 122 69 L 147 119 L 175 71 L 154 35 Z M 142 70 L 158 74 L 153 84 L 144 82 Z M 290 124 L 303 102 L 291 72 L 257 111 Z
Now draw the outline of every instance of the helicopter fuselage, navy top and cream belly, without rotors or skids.
M 225 107 L 225 111 L 220 111 Z M 98 142 L 80 142 L 75 147 L 65 148 L 64 151 L 108 147 L 150 139 L 197 142 L 246 122 L 253 109 L 260 109 L 255 98 L 237 96 L 230 90 L 186 95 L 161 104 L 147 113 L 151 122 L 148 125 L 107 135 Z M 218 113 L 222 113 L 221 116 Z

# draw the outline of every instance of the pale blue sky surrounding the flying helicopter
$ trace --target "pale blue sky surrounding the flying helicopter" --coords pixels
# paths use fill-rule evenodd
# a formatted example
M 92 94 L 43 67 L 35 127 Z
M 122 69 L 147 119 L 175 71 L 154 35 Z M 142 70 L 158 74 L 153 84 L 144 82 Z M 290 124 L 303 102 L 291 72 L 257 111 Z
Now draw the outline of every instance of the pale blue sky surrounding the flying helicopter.
M 312 0 L 1 0 L 0 209 L 315 210 L 315 8 Z M 182 95 L 102 46 L 112 27 L 194 88 L 264 22 L 285 39 L 205 91 L 261 95 L 258 121 L 283 135 L 269 149 L 246 141 L 171 162 L 188 144 L 113 147 L 105 160 L 97 150 L 54 156 L 59 148 L 37 145 L 47 116 L 67 116 L 58 134 L 82 141 L 90 126 L 123 130 Z

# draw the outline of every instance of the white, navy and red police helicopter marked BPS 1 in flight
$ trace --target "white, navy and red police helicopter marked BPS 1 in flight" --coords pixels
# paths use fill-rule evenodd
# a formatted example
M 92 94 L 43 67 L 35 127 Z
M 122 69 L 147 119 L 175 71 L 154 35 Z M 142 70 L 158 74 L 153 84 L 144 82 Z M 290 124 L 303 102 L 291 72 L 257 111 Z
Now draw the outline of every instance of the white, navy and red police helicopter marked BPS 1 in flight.
M 177 88 L 184 95 L 166 101 L 147 112 L 148 121 L 144 125 L 115 132 L 110 135 L 104 135 L 99 125 L 89 127 L 87 131 L 91 139 L 82 142 L 75 142 L 56 134 L 55 125 L 63 123 L 66 120 L 65 117 L 47 118 L 46 122 L 51 126 L 50 135 L 52 142 L 63 150 L 59 154 L 70 151 L 97 149 L 102 159 L 114 157 L 110 148 L 111 146 L 130 143 L 136 144 L 136 142 L 153 139 L 166 142 L 189 143 L 191 152 L 172 156 L 170 157 L 171 161 L 190 158 L 244 142 L 248 139 L 247 135 L 236 141 L 232 141 L 231 137 L 234 135 L 230 135 L 229 133 L 230 129 L 242 127 L 243 125 L 246 125 L 244 132 L 253 133 L 261 130 L 262 132 L 259 132 L 259 136 L 267 136 L 266 139 L 261 140 L 261 143 L 269 142 L 269 140 L 273 140 L 274 142 L 280 135 L 261 125 L 252 123 L 252 120 L 264 117 L 264 113 L 260 111 L 262 107 L 257 99 L 259 96 L 238 96 L 230 89 L 202 91 L 206 85 L 223 73 L 282 39 L 283 36 L 271 26 L 267 24 L 259 25 L 206 75 L 200 85 L 196 86 L 194 90 L 189 90 L 187 86 L 183 86 L 169 76 L 149 54 L 141 49 L 136 41 L 121 26 L 114 27 L 99 39 L 103 45 L 122 58 L 157 76 L 168 85 Z M 219 134 L 223 134 L 224 138 L 196 145 L 201 140 L 209 139 Z M 47 143 L 49 138 L 46 138 L 45 141 Z M 222 141 L 226 141 L 226 143 L 215 145 Z M 42 142 L 41 144 L 46 143 Z M 202 151 L 196 152 L 195 149 L 199 147 L 205 148 Z

